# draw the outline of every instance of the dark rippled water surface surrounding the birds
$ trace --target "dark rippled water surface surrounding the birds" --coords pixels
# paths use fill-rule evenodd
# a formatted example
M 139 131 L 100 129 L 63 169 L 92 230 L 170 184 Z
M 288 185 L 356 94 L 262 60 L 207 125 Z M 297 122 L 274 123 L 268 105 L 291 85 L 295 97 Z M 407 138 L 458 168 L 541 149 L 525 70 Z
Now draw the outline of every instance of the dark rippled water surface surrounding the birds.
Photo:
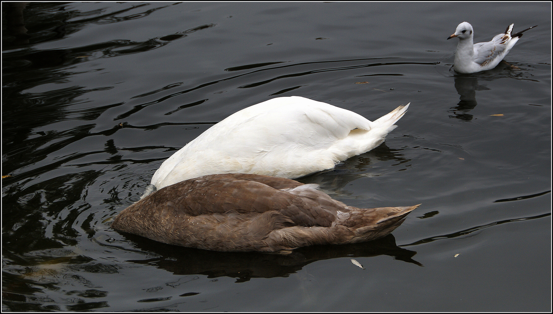
M 551 309 L 549 2 L 2 7 L 3 310 Z M 465 20 L 476 41 L 539 27 L 456 75 Z M 422 203 L 393 235 L 284 256 L 109 227 L 213 123 L 294 95 L 371 120 L 411 102 L 384 144 L 300 179 Z

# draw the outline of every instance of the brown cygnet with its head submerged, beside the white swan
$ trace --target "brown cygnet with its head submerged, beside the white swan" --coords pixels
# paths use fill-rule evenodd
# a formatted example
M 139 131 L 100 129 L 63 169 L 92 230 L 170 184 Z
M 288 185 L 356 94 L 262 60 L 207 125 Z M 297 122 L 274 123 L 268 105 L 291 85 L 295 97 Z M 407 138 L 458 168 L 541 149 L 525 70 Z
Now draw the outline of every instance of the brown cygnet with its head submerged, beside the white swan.
M 112 228 L 183 247 L 278 252 L 382 238 L 420 205 L 356 208 L 316 187 L 254 174 L 201 176 L 125 208 Z

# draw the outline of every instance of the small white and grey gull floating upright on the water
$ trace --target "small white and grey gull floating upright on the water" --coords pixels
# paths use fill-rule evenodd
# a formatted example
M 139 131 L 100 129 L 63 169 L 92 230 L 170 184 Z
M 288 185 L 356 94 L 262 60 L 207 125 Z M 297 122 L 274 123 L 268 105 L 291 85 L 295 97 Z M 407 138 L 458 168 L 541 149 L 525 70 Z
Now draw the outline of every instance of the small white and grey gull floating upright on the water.
M 522 33 L 538 26 L 511 35 L 513 25 L 510 24 L 505 33 L 495 35 L 492 41 L 473 44 L 472 25 L 467 22 L 459 24 L 455 33 L 447 38 L 457 37 L 459 39 L 455 51 L 455 61 L 453 61 L 453 70 L 459 73 L 476 73 L 493 69 L 509 53 L 509 50 L 523 35 Z

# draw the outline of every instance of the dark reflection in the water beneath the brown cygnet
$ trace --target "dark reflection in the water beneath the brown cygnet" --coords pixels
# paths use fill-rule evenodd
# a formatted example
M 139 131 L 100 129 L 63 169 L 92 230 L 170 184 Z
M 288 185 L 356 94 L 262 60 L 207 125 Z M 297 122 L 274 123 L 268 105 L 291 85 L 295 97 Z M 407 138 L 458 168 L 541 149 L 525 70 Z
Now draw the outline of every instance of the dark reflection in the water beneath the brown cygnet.
M 128 260 L 129 263 L 153 265 L 175 275 L 207 275 L 207 278 L 228 276 L 237 278 L 236 282 L 244 282 L 252 278 L 288 277 L 307 264 L 332 258 L 389 255 L 396 260 L 422 266 L 412 259 L 416 252 L 398 247 L 392 234 L 369 242 L 302 247 L 287 255 L 217 252 L 163 244 L 129 233 L 124 233 L 124 237 L 134 242 L 136 248 L 159 255 L 159 257 L 144 260 Z M 345 265 L 353 266 L 349 260 Z

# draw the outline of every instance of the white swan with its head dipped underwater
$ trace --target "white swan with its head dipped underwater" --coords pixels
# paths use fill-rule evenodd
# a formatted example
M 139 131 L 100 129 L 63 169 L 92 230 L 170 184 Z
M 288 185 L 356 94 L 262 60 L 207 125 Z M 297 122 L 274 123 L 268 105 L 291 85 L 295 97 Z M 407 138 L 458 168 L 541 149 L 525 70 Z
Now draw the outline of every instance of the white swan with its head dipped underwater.
M 273 98 L 207 129 L 166 159 L 151 184 L 159 190 L 199 176 L 229 173 L 293 179 L 332 169 L 380 145 L 408 106 L 371 122 L 304 97 Z M 152 185 L 144 196 L 155 190 Z

